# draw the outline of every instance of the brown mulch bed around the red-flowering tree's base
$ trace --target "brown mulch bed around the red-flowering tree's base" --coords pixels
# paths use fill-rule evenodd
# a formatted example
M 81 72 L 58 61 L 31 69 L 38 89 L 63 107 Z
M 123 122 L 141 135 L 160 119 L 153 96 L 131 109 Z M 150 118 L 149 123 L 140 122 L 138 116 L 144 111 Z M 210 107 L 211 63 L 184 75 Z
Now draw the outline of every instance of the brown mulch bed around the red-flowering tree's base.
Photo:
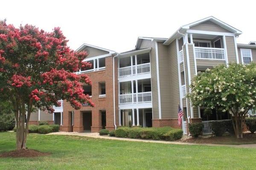
M 43 153 L 38 150 L 33 149 L 21 149 L 21 150 L 12 150 L 5 153 L 0 153 L 0 157 L 6 158 L 6 157 L 38 157 L 38 156 L 48 156 L 50 153 Z

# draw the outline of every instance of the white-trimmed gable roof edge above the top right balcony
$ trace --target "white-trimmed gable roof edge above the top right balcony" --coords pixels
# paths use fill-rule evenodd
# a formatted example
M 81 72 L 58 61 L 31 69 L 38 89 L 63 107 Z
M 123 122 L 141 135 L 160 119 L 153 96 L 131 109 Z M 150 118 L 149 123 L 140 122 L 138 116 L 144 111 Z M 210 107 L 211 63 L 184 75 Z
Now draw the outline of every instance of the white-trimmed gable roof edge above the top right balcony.
M 224 23 L 223 21 L 221 20 L 218 20 L 217 18 L 215 17 L 207 17 L 207 18 L 204 18 L 202 20 L 198 20 L 198 21 L 195 21 L 193 23 L 189 23 L 189 24 L 186 24 L 184 26 L 181 26 L 174 34 L 172 34 L 171 37 L 168 38 L 168 40 L 166 40 L 163 44 L 164 45 L 169 45 L 173 40 L 175 40 L 177 37 L 180 37 L 180 33 L 185 33 L 186 30 L 188 30 L 189 28 L 191 28 L 192 26 L 196 26 L 198 24 L 201 24 L 201 23 L 204 23 L 206 21 L 212 21 L 213 23 L 221 26 L 222 28 L 225 28 L 227 29 L 228 31 L 232 32 L 235 34 L 235 36 L 239 36 L 240 34 L 242 34 L 242 31 L 240 31 L 239 29 L 236 29 L 230 25 L 228 25 L 227 23 Z

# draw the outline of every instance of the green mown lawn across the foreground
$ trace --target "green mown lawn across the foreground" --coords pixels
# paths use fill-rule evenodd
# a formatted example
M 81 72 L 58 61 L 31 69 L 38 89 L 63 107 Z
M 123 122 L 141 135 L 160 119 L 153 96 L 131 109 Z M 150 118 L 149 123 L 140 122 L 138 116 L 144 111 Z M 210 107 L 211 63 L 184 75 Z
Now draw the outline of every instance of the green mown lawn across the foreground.
M 27 146 L 51 156 L 0 158 L 0 170 L 255 169 L 256 149 L 157 144 L 29 135 Z M 15 149 L 15 133 L 0 133 L 0 152 Z

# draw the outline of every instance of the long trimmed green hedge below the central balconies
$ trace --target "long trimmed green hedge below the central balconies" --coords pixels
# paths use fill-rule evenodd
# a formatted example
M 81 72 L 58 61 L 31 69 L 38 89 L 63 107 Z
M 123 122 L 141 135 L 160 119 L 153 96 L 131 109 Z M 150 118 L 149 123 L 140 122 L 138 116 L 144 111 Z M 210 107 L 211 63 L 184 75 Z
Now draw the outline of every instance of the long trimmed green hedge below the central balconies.
M 120 138 L 154 139 L 174 141 L 183 135 L 182 129 L 172 127 L 119 127 L 115 136 Z

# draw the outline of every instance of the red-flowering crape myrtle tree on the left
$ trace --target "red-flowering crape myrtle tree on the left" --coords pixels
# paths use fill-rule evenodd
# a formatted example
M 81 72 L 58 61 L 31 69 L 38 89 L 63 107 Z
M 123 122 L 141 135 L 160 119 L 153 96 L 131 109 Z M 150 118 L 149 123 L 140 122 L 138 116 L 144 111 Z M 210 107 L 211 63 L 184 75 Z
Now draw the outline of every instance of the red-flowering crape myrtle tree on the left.
M 45 32 L 31 25 L 15 28 L 0 21 L 0 100 L 12 102 L 17 150 L 26 149 L 33 109 L 52 113 L 52 105 L 60 105 L 58 99 L 66 99 L 75 109 L 81 108 L 81 103 L 94 106 L 82 88 L 91 85 L 89 77 L 73 73 L 90 67 L 82 62 L 86 56 L 70 50 L 60 28 Z

